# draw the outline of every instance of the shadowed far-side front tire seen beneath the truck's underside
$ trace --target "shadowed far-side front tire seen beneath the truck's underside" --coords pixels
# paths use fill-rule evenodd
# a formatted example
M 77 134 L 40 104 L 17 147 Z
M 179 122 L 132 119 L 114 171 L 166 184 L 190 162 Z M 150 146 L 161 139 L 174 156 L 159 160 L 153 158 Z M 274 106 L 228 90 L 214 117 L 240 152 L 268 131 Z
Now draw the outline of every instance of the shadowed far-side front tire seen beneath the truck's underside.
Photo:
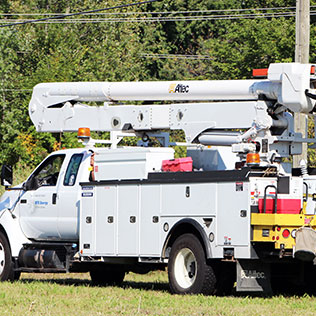
M 90 277 L 93 285 L 121 285 L 125 271 L 114 269 L 94 269 L 90 271 Z

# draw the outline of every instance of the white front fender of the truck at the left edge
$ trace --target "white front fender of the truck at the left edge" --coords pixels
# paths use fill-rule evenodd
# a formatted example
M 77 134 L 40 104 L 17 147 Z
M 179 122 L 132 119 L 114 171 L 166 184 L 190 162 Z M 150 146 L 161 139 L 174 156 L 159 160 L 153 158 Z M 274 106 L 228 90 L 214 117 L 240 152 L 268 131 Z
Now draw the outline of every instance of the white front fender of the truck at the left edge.
M 0 215 L 0 229 L 8 237 L 12 257 L 18 257 L 23 244 L 30 242 L 21 230 L 19 218 L 11 214 L 8 209 L 3 210 Z

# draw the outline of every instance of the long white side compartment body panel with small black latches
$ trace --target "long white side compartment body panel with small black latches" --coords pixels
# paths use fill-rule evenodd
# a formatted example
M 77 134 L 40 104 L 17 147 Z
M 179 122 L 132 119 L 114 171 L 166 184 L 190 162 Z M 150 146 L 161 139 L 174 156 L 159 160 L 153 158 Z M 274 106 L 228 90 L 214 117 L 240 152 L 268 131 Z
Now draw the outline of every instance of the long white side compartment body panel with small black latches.
M 237 190 L 235 182 L 119 182 L 82 186 L 79 248 L 83 257 L 160 258 L 173 225 L 191 218 L 205 234 L 215 234 L 214 258 L 223 257 L 223 247 L 234 247 L 241 258 L 250 258 L 249 183 Z

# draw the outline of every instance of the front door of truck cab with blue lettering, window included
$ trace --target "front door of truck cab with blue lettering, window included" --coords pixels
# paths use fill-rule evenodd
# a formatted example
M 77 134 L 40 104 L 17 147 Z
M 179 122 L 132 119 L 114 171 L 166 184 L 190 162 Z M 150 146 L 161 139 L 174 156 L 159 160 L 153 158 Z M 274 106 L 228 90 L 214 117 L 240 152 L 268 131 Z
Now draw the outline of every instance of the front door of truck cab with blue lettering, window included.
M 19 202 L 20 225 L 28 238 L 59 239 L 57 190 L 64 154 L 49 156 L 25 183 Z

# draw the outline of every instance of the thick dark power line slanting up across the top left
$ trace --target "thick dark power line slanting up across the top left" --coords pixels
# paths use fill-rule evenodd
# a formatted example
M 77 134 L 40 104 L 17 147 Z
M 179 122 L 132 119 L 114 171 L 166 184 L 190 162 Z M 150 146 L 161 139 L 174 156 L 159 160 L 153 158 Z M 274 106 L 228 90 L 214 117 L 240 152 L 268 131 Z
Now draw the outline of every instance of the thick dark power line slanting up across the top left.
M 64 18 L 68 18 L 68 17 L 71 17 L 71 16 L 77 16 L 77 15 L 83 15 L 83 14 L 91 14 L 91 13 L 96 13 L 96 12 L 101 12 L 101 11 L 108 11 L 108 10 L 114 10 L 114 9 L 128 8 L 128 7 L 132 7 L 132 6 L 136 6 L 136 5 L 142 5 L 142 4 L 147 4 L 147 3 L 157 2 L 157 1 L 160 1 L 160 0 L 146 0 L 146 1 L 129 3 L 129 4 L 117 5 L 117 6 L 114 6 L 114 7 L 108 7 L 108 8 L 103 8 L 103 9 L 95 9 L 95 10 L 90 10 L 90 11 L 82 11 L 82 12 L 69 13 L 69 14 L 61 14 L 61 15 L 58 15 L 58 16 L 47 17 L 47 18 L 42 18 L 42 19 L 28 20 L 28 21 L 22 21 L 22 22 L 16 22 L 16 23 L 0 25 L 0 27 L 9 27 L 9 26 L 14 26 L 14 25 L 23 25 L 23 24 L 29 24 L 29 23 L 44 22 L 44 21 L 48 21 L 48 20 L 51 20 L 51 19 L 64 19 Z

